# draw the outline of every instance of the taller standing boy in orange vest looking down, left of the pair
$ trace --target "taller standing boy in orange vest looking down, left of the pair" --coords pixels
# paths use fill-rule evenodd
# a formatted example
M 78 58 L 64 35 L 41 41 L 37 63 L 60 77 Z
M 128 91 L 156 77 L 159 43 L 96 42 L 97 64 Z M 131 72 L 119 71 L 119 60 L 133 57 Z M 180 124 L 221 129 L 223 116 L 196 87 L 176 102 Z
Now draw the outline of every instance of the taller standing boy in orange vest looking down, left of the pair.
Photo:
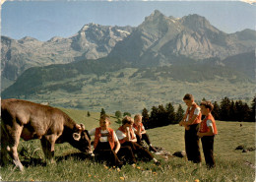
M 194 163 L 200 163 L 201 154 L 199 149 L 199 137 L 197 136 L 198 124 L 201 122 L 200 107 L 194 101 L 192 94 L 185 94 L 183 101 L 187 105 L 187 110 L 183 119 L 179 122 L 179 125 L 185 127 L 185 151 L 188 160 Z

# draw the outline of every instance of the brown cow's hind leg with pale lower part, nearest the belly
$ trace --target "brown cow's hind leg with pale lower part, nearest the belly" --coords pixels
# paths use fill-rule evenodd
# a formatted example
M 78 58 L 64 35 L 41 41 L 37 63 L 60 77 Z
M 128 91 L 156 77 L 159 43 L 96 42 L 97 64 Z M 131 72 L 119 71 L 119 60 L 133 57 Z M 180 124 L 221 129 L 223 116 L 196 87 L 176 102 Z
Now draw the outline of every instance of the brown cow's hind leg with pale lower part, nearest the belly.
M 9 154 L 13 159 L 13 163 L 16 165 L 16 167 L 19 167 L 21 171 L 23 171 L 24 167 L 22 162 L 20 161 L 17 149 L 18 149 L 22 130 L 23 130 L 23 126 L 15 122 L 12 127 L 7 128 L 8 135 L 10 136 L 9 145 L 7 146 L 7 151 L 9 152 Z

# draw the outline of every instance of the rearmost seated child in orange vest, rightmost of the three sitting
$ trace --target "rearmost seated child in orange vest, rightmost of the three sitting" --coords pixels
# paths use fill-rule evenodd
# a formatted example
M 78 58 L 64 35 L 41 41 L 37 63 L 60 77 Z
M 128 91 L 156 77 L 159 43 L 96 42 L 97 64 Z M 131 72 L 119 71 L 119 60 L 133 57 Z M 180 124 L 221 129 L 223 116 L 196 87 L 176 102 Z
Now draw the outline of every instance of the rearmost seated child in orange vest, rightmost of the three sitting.
M 151 144 L 149 135 L 146 133 L 145 127 L 142 123 L 142 116 L 140 114 L 136 114 L 134 116 L 133 130 L 136 134 L 137 143 L 139 145 L 141 145 L 142 141 L 145 141 L 150 147 L 150 152 L 157 152 Z

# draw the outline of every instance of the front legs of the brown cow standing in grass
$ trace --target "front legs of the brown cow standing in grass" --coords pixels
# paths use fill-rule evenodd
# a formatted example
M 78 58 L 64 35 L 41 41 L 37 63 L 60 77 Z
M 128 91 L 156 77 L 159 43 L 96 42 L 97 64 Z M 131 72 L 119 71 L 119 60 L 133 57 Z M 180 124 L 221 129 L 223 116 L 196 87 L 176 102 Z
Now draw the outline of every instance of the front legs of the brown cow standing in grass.
M 44 152 L 46 162 L 54 163 L 54 145 L 56 142 L 56 135 L 48 135 L 41 138 L 41 147 Z

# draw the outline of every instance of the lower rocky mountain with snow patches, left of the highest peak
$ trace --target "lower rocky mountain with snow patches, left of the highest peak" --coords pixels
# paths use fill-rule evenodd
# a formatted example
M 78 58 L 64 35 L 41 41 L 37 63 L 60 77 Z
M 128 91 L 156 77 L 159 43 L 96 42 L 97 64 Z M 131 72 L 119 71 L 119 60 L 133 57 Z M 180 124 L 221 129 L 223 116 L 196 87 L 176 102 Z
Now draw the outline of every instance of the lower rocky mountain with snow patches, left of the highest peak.
M 131 27 L 89 24 L 69 38 L 56 36 L 45 42 L 32 37 L 15 40 L 1 36 L 2 77 L 14 81 L 34 66 L 104 57 L 116 42 L 128 36 L 132 30 Z

